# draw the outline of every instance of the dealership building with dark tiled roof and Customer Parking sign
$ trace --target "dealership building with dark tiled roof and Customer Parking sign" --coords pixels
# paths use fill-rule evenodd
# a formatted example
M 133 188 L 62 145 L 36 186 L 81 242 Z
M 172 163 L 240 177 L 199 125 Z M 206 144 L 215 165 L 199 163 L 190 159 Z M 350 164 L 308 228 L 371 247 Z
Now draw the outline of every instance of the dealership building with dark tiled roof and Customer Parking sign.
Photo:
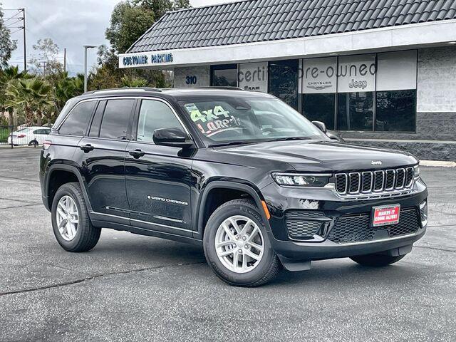
M 248 0 L 168 12 L 119 57 L 180 88 L 276 95 L 348 142 L 456 160 L 456 0 Z

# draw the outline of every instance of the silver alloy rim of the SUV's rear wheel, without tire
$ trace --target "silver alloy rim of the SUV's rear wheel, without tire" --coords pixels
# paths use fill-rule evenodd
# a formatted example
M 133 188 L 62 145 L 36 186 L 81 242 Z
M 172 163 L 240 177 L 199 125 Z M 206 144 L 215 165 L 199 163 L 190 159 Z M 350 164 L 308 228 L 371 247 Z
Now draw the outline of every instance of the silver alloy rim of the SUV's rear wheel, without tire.
M 79 222 L 78 207 L 74 199 L 68 195 L 63 196 L 58 201 L 56 222 L 58 232 L 60 232 L 64 240 L 71 241 L 76 237 Z

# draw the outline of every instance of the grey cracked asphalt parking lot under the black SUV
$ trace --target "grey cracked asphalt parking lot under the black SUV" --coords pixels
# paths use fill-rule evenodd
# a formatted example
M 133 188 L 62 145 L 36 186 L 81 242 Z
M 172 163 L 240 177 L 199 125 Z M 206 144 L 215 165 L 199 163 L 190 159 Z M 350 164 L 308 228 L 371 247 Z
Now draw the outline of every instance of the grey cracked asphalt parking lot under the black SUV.
M 187 244 L 105 229 L 63 251 L 38 157 L 0 150 L 0 341 L 455 341 L 456 168 L 422 168 L 427 234 L 397 264 L 316 261 L 240 289 Z

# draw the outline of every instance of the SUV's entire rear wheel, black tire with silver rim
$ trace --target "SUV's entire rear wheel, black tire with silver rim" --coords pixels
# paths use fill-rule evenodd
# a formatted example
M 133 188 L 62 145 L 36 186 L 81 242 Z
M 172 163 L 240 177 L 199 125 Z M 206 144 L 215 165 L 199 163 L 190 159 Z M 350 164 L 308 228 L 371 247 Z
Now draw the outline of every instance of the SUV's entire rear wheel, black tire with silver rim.
M 83 192 L 78 183 L 58 188 L 52 202 L 52 227 L 57 242 L 68 252 L 87 252 L 100 239 L 101 229 L 93 227 Z

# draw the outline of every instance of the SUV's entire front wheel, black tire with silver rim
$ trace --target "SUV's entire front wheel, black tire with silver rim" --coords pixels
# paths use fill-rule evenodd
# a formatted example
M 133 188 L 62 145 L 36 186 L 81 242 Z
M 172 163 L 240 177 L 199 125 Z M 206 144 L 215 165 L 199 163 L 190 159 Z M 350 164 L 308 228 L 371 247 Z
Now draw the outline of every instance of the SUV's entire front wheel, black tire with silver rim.
M 207 221 L 204 254 L 220 279 L 234 286 L 260 286 L 281 268 L 254 202 L 234 199 Z

